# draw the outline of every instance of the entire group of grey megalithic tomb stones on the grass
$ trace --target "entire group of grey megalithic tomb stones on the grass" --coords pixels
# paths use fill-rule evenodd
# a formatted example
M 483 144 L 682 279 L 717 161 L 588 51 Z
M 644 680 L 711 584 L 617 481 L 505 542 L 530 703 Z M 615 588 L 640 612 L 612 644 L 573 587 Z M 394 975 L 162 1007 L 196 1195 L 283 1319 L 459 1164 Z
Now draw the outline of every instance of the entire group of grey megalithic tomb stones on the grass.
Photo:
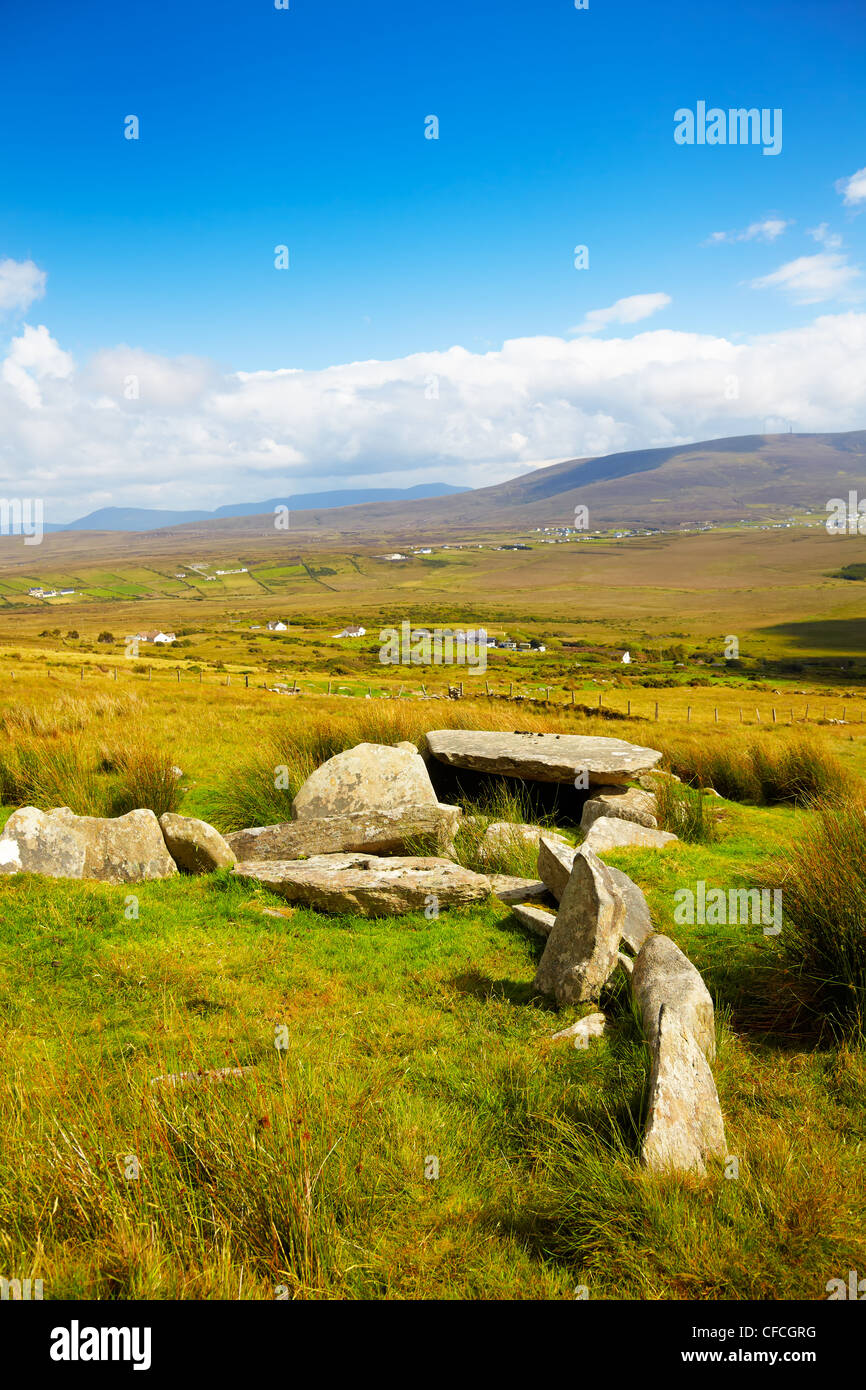
M 639 887 L 602 858 L 676 841 L 657 826 L 662 755 L 617 738 L 470 730 L 427 734 L 427 753 L 452 767 L 588 787 L 582 844 L 575 849 L 539 826 L 493 823 L 482 858 L 492 862 L 513 844 L 538 847 L 538 878 L 473 873 L 453 859 L 460 808 L 438 801 L 414 744 L 359 744 L 311 773 L 289 821 L 225 837 L 174 813 L 99 817 L 68 806 L 24 806 L 0 834 L 0 873 L 125 884 L 231 869 L 288 902 L 361 916 L 425 910 L 435 917 L 441 908 L 495 892 L 544 940 L 535 987 L 557 1005 L 598 1001 L 613 973 L 626 970 L 652 1056 L 642 1161 L 657 1170 L 703 1173 L 708 1159 L 724 1156 L 710 1072 L 713 1002 L 676 942 L 653 931 Z M 641 785 L 627 785 L 634 780 Z M 603 1029 L 605 1016 L 592 1013 L 556 1037 L 588 1045 Z

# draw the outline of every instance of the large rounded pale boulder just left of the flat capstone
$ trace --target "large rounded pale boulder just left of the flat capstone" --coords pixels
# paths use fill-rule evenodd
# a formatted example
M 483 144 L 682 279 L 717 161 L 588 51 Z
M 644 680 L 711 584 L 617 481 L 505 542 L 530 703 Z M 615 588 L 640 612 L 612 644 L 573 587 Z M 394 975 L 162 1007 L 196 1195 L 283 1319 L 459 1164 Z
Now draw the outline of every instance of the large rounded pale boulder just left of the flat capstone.
M 307 777 L 292 802 L 292 819 L 436 805 L 427 764 L 414 744 L 357 744 Z

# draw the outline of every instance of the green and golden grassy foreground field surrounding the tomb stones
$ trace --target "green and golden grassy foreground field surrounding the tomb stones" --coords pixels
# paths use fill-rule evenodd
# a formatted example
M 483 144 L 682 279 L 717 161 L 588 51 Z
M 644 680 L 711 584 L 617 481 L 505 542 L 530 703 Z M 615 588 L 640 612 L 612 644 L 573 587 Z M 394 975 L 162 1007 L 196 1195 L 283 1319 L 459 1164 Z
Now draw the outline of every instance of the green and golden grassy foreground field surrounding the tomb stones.
M 706 694 L 721 699 L 689 692 Z M 496 899 L 371 922 L 227 873 L 133 895 L 19 876 L 0 878 L 0 1268 L 43 1279 L 47 1298 L 253 1300 L 815 1300 L 862 1268 L 863 885 L 847 865 L 866 845 L 849 817 L 834 859 L 840 823 L 822 816 L 856 802 L 866 726 L 710 716 L 698 730 L 666 703 L 680 696 L 644 691 L 659 720 L 612 723 L 99 671 L 82 689 L 60 667 L 3 681 L 4 816 L 22 799 L 117 813 L 170 796 L 221 828 L 264 823 L 339 748 L 443 726 L 616 734 L 695 784 L 727 776 L 721 799 L 694 794 L 710 810 L 689 813 L 680 844 L 612 862 L 713 992 L 738 1176 L 641 1168 L 648 1054 L 621 979 L 602 1038 L 553 1042 L 591 1006 L 534 995 L 541 942 Z M 467 809 L 527 815 L 513 788 Z M 457 853 L 473 863 L 477 838 Z M 518 853 L 493 867 L 531 869 Z M 698 880 L 788 878 L 798 920 L 778 938 L 674 919 L 676 891 Z M 816 920 L 831 890 L 831 920 Z M 245 1070 L 160 1080 L 220 1068 Z

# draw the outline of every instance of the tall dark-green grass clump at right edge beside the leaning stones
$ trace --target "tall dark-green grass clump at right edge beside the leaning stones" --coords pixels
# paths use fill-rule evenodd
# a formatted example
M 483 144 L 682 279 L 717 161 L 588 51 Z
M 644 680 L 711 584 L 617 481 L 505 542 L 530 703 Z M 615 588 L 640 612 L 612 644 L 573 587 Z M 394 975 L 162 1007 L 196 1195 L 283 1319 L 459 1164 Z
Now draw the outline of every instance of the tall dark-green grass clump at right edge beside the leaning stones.
M 866 806 L 822 802 L 776 866 L 790 963 L 816 986 L 834 1024 L 866 1036 Z

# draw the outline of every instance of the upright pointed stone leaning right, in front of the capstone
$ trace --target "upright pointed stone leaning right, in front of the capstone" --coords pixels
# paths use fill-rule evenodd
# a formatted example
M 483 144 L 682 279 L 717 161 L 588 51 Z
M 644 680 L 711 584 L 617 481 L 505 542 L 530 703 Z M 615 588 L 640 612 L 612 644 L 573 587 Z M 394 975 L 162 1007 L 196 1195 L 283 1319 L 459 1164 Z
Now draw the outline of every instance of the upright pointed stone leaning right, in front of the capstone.
M 598 999 L 617 966 L 624 916 L 606 865 L 581 848 L 535 973 L 535 988 L 560 1005 Z

